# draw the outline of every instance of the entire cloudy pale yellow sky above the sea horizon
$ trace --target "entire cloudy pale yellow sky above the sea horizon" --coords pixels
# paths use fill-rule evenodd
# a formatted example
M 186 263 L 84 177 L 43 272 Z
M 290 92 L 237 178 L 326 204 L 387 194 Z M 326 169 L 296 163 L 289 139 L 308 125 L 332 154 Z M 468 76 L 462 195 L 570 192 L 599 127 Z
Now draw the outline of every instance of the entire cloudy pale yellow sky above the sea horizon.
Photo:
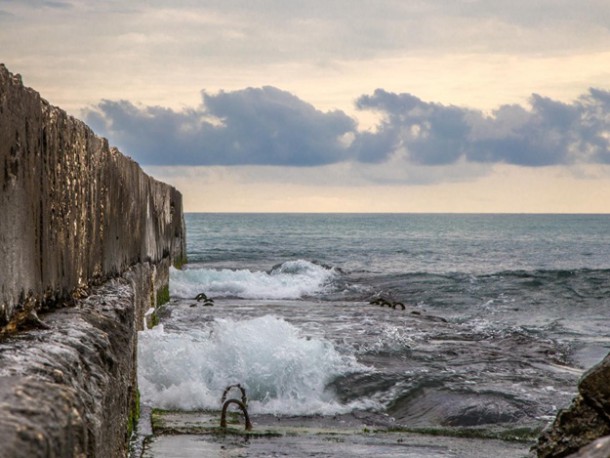
M 607 0 L 0 0 L 189 212 L 610 212 Z

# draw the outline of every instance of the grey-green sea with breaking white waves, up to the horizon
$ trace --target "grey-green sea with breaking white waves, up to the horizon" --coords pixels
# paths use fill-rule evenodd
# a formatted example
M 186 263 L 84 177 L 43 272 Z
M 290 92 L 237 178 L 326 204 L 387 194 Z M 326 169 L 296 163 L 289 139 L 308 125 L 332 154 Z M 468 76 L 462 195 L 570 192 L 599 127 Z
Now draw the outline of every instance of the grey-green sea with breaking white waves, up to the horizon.
M 610 351 L 610 215 L 185 220 L 139 337 L 148 406 L 218 409 L 239 383 L 255 418 L 531 439 Z

